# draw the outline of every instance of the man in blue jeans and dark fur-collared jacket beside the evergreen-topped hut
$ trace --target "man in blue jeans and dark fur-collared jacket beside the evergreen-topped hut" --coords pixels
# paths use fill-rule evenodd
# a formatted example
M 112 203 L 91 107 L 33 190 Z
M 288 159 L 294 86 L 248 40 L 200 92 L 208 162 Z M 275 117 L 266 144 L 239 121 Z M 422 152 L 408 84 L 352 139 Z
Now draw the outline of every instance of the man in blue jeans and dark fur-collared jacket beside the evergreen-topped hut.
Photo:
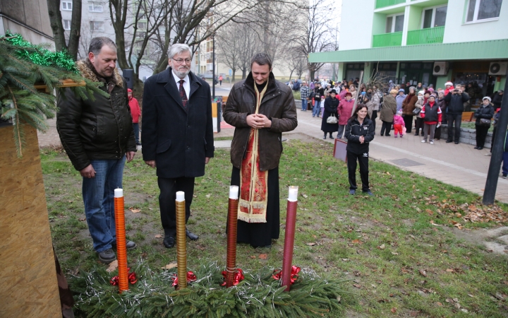
M 94 37 L 88 58 L 78 61 L 83 77 L 95 82 L 109 98 L 94 93 L 92 100 L 66 89 L 59 97 L 56 128 L 63 148 L 83 177 L 83 202 L 88 230 L 99 259 L 116 259 L 114 189 L 122 187 L 123 166 L 136 151 L 126 82 L 116 70 L 116 45 L 107 37 Z M 127 248 L 135 243 L 127 241 Z

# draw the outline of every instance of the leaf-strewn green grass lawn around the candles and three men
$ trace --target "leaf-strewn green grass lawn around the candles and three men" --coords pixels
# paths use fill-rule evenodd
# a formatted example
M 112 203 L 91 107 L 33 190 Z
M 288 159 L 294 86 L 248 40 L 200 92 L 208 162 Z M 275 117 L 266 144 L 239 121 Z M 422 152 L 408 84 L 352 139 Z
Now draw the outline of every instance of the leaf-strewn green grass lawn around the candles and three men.
M 499 225 L 463 220 L 466 211 L 489 208 L 478 195 L 371 160 L 375 197 L 350 196 L 346 165 L 331 153 L 329 143 L 291 140 L 284 143 L 279 167 L 282 198 L 289 185 L 299 186 L 294 265 L 323 278 L 351 278 L 343 288 L 355 295 L 344 295 L 342 309 L 327 317 L 508 316 L 507 256 L 454 234 Z M 63 271 L 104 266 L 92 250 L 78 172 L 64 153 L 43 150 L 41 158 Z M 200 239 L 188 241 L 190 270 L 210 261 L 225 266 L 230 175 L 229 150 L 218 150 L 205 177 L 196 179 L 188 228 Z M 140 154 L 126 165 L 123 185 L 126 209 L 131 208 L 126 211 L 128 238 L 138 244 L 128 252 L 129 262 L 144 259 L 157 269 L 176 261 L 176 250 L 162 246 L 155 170 Z M 508 211 L 507 205 L 500 208 Z M 238 245 L 239 268 L 282 266 L 285 210 L 282 199 L 281 237 L 271 249 Z

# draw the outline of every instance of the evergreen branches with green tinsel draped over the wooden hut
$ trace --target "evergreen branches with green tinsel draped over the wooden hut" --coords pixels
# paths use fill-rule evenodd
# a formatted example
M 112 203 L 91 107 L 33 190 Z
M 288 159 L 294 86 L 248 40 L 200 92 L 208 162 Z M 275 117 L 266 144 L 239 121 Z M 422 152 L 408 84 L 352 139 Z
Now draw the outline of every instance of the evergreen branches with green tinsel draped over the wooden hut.
M 102 83 L 80 76 L 68 54 L 50 52 L 46 47 L 48 45 L 32 45 L 21 35 L 9 31 L 0 36 L 0 118 L 13 123 L 18 157 L 23 156 L 25 124 L 40 131 L 48 129 L 45 119 L 54 117 L 53 93 L 59 93 L 62 80 L 84 82 L 85 86 L 71 87 L 80 98 L 93 100 L 93 93 L 108 96 L 99 88 Z M 37 90 L 36 83 L 44 83 L 49 93 Z

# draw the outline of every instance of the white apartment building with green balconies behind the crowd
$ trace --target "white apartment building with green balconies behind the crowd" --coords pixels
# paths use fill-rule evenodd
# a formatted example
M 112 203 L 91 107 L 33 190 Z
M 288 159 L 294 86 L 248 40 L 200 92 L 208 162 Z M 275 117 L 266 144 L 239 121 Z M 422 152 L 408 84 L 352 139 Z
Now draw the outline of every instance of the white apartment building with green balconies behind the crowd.
M 476 82 L 484 95 L 506 82 L 508 0 L 343 1 L 340 34 L 338 51 L 309 60 L 337 63 L 341 78 Z

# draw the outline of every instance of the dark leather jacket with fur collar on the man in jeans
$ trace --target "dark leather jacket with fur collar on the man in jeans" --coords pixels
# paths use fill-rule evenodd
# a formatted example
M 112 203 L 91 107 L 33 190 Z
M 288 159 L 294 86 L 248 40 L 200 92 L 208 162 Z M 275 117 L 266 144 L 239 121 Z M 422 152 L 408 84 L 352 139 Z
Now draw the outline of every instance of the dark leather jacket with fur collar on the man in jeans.
M 79 61 L 81 75 L 92 81 L 104 81 L 92 64 Z M 94 93 L 92 100 L 74 95 L 70 88 L 59 96 L 56 129 L 75 170 L 82 170 L 94 159 L 120 159 L 127 151 L 136 151 L 127 86 L 118 71 L 100 88 L 111 90 L 109 98 Z M 109 88 L 109 89 L 108 89 Z

